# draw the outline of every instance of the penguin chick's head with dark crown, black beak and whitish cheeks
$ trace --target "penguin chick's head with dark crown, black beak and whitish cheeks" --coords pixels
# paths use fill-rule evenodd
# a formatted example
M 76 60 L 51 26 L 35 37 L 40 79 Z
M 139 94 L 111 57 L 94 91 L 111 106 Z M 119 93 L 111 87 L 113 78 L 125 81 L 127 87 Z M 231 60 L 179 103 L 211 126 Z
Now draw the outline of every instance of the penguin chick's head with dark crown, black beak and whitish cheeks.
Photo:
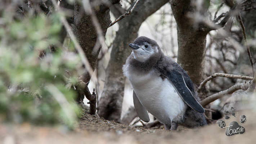
M 133 56 L 140 62 L 145 62 L 154 55 L 158 55 L 160 48 L 156 41 L 145 36 L 140 36 L 129 44 L 133 49 Z

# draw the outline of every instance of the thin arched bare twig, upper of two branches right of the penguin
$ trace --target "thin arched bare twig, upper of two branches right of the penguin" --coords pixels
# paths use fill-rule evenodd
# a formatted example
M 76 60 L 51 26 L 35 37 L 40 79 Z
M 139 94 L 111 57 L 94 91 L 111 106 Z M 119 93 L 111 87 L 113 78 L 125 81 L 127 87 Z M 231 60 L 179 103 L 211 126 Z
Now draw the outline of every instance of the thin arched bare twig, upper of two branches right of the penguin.
M 210 81 L 211 79 L 213 79 L 215 77 L 240 78 L 243 80 L 252 80 L 253 79 L 253 77 L 250 77 L 250 76 L 232 75 L 232 74 L 227 74 L 227 73 L 214 73 L 201 82 L 201 84 L 197 88 L 198 91 L 200 91 L 202 89 L 202 87 L 206 84 L 207 81 Z

